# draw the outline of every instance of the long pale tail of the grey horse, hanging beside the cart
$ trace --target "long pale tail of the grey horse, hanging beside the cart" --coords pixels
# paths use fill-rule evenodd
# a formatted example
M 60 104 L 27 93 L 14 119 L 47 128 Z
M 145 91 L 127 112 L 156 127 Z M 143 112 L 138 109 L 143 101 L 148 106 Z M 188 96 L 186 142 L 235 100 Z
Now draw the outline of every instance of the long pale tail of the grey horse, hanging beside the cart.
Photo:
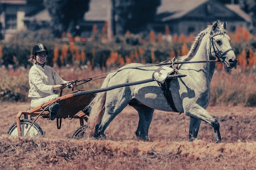
M 105 88 L 108 86 L 109 78 L 107 76 L 106 79 L 103 81 L 101 88 Z M 104 111 L 105 111 L 105 102 L 106 102 L 106 91 L 101 93 L 97 93 L 97 95 L 92 99 L 89 106 L 91 107 L 90 115 L 88 117 L 88 132 L 90 136 L 93 136 L 94 127 L 96 124 L 99 124 L 101 121 Z

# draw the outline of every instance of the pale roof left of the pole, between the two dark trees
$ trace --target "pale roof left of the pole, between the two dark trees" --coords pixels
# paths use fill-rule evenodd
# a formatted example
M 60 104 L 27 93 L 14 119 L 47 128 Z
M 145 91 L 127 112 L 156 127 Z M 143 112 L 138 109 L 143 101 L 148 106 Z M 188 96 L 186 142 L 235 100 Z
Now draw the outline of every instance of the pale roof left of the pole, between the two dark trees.
M 89 11 L 85 13 L 85 21 L 106 21 L 110 19 L 111 0 L 90 0 Z

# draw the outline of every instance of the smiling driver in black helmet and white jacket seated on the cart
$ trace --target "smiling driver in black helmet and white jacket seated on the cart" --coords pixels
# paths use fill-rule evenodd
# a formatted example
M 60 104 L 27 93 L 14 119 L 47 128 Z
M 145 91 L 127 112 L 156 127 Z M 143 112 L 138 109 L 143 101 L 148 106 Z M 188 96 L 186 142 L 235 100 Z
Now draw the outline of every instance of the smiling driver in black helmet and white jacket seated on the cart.
M 29 94 L 31 98 L 30 107 L 34 108 L 48 102 L 56 97 L 55 91 L 64 88 L 70 82 L 63 80 L 51 66 L 45 65 L 48 50 L 44 44 L 36 44 L 32 49 L 29 62 L 34 65 L 29 70 Z M 70 84 L 70 88 L 76 84 Z M 49 106 L 49 118 L 54 120 L 59 110 L 57 102 Z

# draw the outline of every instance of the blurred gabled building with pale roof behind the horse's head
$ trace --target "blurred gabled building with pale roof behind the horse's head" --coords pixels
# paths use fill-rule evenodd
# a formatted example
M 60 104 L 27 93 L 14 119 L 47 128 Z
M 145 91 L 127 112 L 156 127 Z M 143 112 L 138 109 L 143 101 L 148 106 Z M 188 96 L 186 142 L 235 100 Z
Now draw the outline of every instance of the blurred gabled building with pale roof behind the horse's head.
M 222 4 L 218 0 L 162 0 L 155 22 L 148 24 L 148 29 L 164 33 L 168 26 L 171 34 L 189 35 L 199 33 L 217 20 L 226 21 L 228 31 L 247 28 L 252 22 L 238 4 Z

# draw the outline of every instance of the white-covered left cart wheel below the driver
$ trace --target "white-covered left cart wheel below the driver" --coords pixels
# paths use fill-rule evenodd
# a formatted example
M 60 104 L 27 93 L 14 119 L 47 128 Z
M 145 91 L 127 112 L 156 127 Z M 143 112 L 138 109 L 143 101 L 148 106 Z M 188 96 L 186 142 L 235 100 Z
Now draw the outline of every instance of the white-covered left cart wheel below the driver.
M 21 136 L 25 136 L 25 135 L 28 137 L 43 136 L 43 130 L 40 128 L 40 126 L 36 122 L 34 122 L 34 124 L 31 126 L 32 123 L 33 121 L 29 119 L 20 120 Z M 31 128 L 29 129 L 30 126 Z M 11 136 L 18 136 L 17 123 L 14 123 L 11 126 L 11 128 L 9 128 L 7 134 Z

